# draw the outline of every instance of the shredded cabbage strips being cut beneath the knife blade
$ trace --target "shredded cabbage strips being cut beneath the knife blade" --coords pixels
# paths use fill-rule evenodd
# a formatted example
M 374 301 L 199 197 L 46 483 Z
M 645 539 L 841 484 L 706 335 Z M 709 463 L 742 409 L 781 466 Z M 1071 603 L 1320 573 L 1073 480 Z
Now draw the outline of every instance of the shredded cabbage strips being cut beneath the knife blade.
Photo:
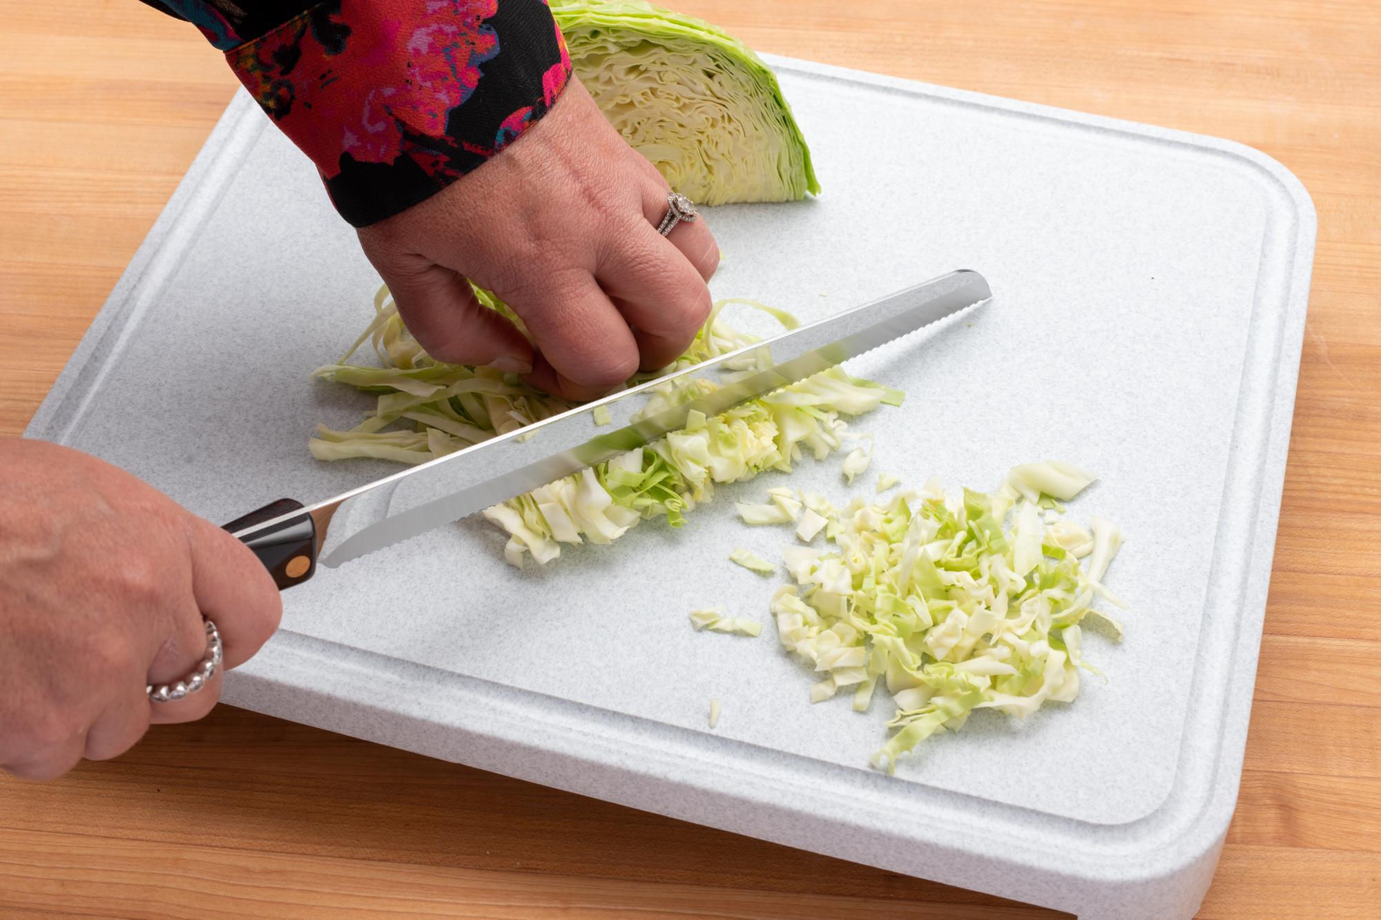
M 476 289 L 476 296 L 516 322 L 493 294 Z M 689 367 L 758 341 L 724 320 L 729 304 L 761 309 L 787 329 L 795 325 L 790 314 L 754 301 L 720 301 L 671 369 Z M 366 341 L 373 344 L 383 366 L 347 363 Z M 743 367 L 726 370 L 726 381 L 746 373 Z M 666 370 L 639 374 L 634 381 L 661 373 Z M 312 376 L 378 394 L 374 413 L 354 428 L 318 425 L 309 442 L 318 460 L 377 457 L 425 463 L 570 408 L 514 374 L 434 361 L 407 333 L 387 287 L 374 297 L 374 320 L 345 356 L 318 367 Z M 707 381 L 696 384 L 695 391 L 663 390 L 644 412 L 700 395 Z M 834 367 L 721 416 L 692 413 L 684 430 L 487 508 L 485 517 L 508 532 L 504 558 L 514 565 L 522 565 L 529 553 L 539 564 L 550 562 L 561 555 L 562 543 L 609 543 L 649 518 L 679 526 L 685 512 L 711 497 L 715 483 L 751 479 L 766 470 L 790 471 L 802 452 L 822 459 L 847 437 L 848 423 L 841 416 L 858 416 L 900 401 L 899 391 Z

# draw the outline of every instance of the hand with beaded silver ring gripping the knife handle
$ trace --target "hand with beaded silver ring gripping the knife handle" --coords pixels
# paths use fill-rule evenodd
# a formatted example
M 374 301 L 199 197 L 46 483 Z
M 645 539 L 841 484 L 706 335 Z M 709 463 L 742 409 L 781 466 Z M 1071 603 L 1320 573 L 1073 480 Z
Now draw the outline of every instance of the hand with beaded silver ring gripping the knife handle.
M 222 667 L 278 629 L 273 579 L 239 540 L 76 450 L 0 439 L 0 768 L 50 779 L 124 753 L 151 722 L 206 716 L 221 671 L 181 700 L 217 624 Z

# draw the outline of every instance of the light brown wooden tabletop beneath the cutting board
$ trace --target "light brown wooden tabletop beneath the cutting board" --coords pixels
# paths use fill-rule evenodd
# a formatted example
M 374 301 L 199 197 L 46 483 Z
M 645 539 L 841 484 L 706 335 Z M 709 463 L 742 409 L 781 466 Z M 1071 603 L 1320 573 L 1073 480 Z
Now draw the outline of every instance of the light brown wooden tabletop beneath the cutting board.
M 1284 503 L 1200 916 L 1378 916 L 1381 1 L 675 6 L 761 51 L 1232 138 L 1304 181 L 1319 239 Z M 0 434 L 235 87 L 134 0 L 0 0 Z M 0 916 L 193 912 L 1059 916 L 224 706 L 57 782 L 0 778 Z

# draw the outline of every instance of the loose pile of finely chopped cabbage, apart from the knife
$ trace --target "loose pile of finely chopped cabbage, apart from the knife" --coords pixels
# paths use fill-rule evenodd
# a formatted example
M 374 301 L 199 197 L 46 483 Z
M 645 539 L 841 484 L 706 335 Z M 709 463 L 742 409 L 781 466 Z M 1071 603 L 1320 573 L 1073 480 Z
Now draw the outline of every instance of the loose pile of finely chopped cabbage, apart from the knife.
M 1061 500 L 1094 475 L 1066 463 L 1015 467 L 993 493 L 946 496 L 931 481 L 884 504 L 853 499 L 834 508 L 820 495 L 772 489 L 783 522 L 809 543 L 783 561 L 794 584 L 772 597 L 778 638 L 822 680 L 811 702 L 852 688 L 865 711 L 881 681 L 896 705 L 896 734 L 871 763 L 892 772 L 928 736 L 957 729 L 975 709 L 1025 717 L 1047 700 L 1072 702 L 1083 659 L 1081 622 L 1121 626 L 1094 608 L 1126 606 L 1103 587 L 1121 546 L 1109 521 L 1084 528 L 1062 517 Z M 1084 559 L 1081 565 L 1080 561 Z

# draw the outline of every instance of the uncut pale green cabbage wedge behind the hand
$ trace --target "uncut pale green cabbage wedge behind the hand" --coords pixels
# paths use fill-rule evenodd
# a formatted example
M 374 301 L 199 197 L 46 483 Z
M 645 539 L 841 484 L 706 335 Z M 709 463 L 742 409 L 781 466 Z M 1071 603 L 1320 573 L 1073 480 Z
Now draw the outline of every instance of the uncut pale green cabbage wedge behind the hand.
M 631 0 L 551 0 L 576 76 L 619 134 L 700 204 L 819 193 L 776 76 L 700 19 Z

